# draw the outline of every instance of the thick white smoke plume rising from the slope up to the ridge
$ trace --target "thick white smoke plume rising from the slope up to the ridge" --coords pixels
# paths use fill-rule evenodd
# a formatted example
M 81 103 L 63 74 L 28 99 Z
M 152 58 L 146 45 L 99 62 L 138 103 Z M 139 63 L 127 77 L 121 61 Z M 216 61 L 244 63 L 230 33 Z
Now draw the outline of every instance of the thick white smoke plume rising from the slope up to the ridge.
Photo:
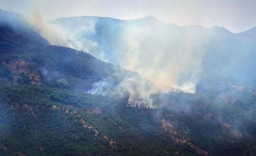
M 157 107 L 153 94 L 195 93 L 205 42 L 205 35 L 196 30 L 181 29 L 153 17 L 131 21 L 74 17 L 47 23 L 38 16 L 34 19 L 50 43 L 87 51 L 140 75 L 116 74 L 94 84 L 89 93 L 112 97 L 128 94 L 128 105 L 151 108 Z M 113 77 L 120 79 L 118 83 L 113 83 Z

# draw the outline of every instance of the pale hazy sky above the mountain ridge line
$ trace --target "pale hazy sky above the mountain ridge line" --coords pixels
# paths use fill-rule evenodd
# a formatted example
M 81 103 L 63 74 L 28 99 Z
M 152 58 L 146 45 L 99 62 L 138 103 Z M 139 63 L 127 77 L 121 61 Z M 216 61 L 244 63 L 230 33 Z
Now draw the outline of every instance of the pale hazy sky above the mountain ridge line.
M 47 19 L 154 16 L 180 26 L 224 26 L 234 33 L 256 26 L 256 0 L 0 0 L 0 8 L 22 14 L 40 10 Z

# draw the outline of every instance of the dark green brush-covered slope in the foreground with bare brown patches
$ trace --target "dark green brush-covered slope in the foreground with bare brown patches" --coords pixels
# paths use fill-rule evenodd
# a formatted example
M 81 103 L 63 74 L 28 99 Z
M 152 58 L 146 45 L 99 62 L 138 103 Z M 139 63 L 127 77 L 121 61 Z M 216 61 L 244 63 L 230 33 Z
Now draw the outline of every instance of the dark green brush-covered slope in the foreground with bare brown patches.
M 84 92 L 130 71 L 30 28 L 0 30 L 0 155 L 255 155 L 255 88 L 205 80 L 196 94 L 155 95 L 158 109 L 127 107 Z

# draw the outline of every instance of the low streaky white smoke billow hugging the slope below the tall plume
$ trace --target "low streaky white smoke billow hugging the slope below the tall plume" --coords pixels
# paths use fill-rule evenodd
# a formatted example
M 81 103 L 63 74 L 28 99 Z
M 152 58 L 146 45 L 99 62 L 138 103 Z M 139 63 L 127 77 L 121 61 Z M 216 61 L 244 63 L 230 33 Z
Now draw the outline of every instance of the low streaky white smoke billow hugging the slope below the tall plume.
M 153 103 L 152 94 L 160 92 L 150 81 L 127 71 L 118 72 L 115 77 L 108 77 L 93 85 L 91 94 L 111 96 L 114 98 L 128 97 L 127 106 L 157 108 Z

